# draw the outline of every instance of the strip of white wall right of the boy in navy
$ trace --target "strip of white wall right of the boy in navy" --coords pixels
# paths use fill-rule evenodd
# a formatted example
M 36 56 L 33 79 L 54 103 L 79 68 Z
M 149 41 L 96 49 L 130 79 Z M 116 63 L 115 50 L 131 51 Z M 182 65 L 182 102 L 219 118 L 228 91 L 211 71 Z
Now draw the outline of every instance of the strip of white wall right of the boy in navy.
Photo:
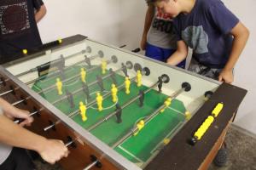
M 254 18 L 256 1 L 224 0 L 224 3 L 250 31 L 247 46 L 235 69 L 234 84 L 248 90 L 248 94 L 239 108 L 235 123 L 256 133 L 256 22 Z

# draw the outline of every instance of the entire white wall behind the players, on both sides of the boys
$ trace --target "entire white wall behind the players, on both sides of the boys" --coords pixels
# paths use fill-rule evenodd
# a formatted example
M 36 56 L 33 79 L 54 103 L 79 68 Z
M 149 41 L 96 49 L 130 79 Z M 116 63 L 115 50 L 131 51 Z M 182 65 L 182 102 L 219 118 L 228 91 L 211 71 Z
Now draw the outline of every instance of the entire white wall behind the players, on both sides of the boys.
M 48 14 L 39 23 L 44 42 L 60 37 L 83 34 L 100 42 L 127 49 L 139 47 L 146 12 L 144 0 L 44 0 Z M 246 88 L 248 94 L 236 117 L 236 125 L 256 133 L 256 47 L 255 0 L 224 0 L 251 31 L 247 47 L 236 65 L 234 84 Z M 62 5 L 60 5 L 62 4 Z

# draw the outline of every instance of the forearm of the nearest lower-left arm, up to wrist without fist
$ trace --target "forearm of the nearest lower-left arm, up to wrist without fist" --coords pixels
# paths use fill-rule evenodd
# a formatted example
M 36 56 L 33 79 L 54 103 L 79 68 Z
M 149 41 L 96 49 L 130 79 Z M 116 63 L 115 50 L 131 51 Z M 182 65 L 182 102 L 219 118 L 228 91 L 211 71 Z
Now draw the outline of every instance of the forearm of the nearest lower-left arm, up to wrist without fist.
M 28 150 L 40 151 L 46 139 L 0 115 L 0 142 Z

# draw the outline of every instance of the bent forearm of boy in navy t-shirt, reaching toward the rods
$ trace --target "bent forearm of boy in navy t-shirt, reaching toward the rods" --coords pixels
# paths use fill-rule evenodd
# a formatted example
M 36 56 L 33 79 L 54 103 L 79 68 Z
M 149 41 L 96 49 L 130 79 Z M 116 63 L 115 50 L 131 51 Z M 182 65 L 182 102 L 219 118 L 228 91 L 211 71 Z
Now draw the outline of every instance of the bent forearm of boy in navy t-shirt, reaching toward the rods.
M 183 59 L 186 59 L 187 55 L 188 46 L 183 40 L 180 40 L 177 42 L 177 50 L 169 57 L 169 59 L 167 59 L 167 63 L 169 65 L 178 65 Z

